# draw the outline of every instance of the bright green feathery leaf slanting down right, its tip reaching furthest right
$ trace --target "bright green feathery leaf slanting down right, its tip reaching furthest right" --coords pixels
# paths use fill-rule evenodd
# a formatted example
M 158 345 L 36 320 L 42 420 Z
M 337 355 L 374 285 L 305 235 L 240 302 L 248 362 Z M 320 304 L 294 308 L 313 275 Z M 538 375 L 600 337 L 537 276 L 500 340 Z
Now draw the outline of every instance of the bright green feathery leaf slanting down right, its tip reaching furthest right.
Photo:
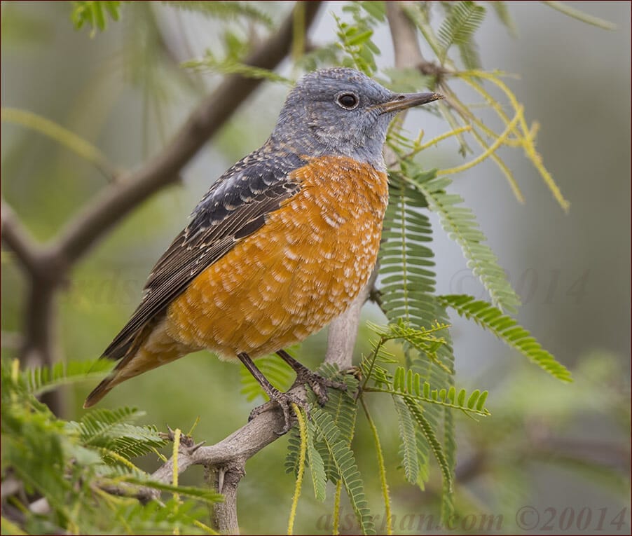
M 518 325 L 515 319 L 503 315 L 498 308 L 486 301 L 479 301 L 472 296 L 462 294 L 438 296 L 438 300 L 446 307 L 453 308 L 462 317 L 472 319 L 479 326 L 491 331 L 511 348 L 515 348 L 542 367 L 551 376 L 565 382 L 572 381 L 570 371 L 563 364 L 556 361 L 555 357 L 547 350 L 544 350 L 526 329 Z

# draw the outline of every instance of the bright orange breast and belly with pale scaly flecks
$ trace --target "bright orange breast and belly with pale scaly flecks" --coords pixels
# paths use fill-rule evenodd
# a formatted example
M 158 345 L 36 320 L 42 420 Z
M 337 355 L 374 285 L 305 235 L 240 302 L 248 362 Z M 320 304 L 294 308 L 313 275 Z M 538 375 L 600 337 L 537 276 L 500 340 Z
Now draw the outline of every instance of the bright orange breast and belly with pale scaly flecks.
M 191 282 L 167 333 L 222 357 L 259 357 L 303 341 L 343 312 L 376 262 L 387 177 L 343 157 L 292 172 L 301 190 Z

